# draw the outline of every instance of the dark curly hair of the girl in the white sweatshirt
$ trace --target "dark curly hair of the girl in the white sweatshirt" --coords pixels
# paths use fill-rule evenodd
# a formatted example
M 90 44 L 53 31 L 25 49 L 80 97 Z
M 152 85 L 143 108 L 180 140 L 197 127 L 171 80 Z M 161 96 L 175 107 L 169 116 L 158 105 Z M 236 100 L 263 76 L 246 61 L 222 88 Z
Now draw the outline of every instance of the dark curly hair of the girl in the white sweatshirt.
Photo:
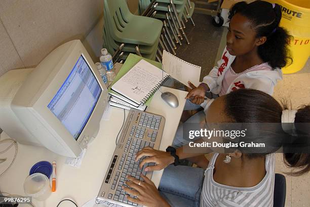
M 228 19 L 240 13 L 248 18 L 256 31 L 256 37 L 267 37 L 265 43 L 258 46 L 258 55 L 272 68 L 283 68 L 292 63 L 289 44 L 292 36 L 283 27 L 279 27 L 282 12 L 278 4 L 264 1 L 236 3 L 229 10 Z

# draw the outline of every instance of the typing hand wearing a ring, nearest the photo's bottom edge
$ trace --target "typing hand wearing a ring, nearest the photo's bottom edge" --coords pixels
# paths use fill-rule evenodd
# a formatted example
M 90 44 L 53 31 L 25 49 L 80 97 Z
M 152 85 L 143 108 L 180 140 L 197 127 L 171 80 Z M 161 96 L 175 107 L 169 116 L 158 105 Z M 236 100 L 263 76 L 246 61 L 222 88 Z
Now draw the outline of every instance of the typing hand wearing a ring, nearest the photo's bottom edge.
M 146 176 L 141 174 L 143 181 L 135 179 L 135 177 L 127 176 L 129 181 L 126 181 L 126 185 L 129 186 L 122 188 L 128 192 L 127 199 L 130 202 L 138 203 L 148 207 L 168 207 L 169 203 L 159 194 L 156 186 Z

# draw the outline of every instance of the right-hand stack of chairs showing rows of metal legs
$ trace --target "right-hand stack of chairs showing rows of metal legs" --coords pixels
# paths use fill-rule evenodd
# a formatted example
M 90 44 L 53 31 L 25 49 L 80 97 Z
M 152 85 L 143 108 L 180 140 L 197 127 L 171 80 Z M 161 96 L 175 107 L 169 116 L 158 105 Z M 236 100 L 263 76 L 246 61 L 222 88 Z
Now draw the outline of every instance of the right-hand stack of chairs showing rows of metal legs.
M 156 55 L 158 61 L 162 60 L 163 49 L 176 55 L 177 44 L 182 45 L 184 39 L 189 44 L 184 29 L 188 19 L 195 26 L 191 18 L 194 9 L 195 4 L 190 0 L 139 0 L 141 16 L 161 19 L 164 24 Z

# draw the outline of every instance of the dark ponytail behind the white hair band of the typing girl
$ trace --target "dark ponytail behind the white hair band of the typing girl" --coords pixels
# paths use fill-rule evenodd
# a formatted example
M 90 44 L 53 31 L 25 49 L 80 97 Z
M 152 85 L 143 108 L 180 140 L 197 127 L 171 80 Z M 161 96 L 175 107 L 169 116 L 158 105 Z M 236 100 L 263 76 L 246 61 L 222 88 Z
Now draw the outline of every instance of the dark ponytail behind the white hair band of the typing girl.
M 310 123 L 310 106 L 303 106 L 298 109 L 294 123 L 297 139 L 300 136 L 310 134 L 308 128 L 308 123 Z M 283 159 L 287 167 L 294 168 L 293 172 L 287 173 L 291 176 L 300 176 L 310 171 L 310 153 L 284 153 Z

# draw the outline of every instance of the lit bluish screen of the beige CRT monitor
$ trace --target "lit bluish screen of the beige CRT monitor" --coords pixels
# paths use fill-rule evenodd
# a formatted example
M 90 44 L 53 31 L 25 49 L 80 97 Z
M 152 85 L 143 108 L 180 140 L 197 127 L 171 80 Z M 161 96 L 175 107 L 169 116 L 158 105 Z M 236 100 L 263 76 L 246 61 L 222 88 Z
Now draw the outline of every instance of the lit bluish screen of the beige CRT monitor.
M 101 91 L 90 66 L 81 55 L 48 108 L 76 140 L 88 122 Z

